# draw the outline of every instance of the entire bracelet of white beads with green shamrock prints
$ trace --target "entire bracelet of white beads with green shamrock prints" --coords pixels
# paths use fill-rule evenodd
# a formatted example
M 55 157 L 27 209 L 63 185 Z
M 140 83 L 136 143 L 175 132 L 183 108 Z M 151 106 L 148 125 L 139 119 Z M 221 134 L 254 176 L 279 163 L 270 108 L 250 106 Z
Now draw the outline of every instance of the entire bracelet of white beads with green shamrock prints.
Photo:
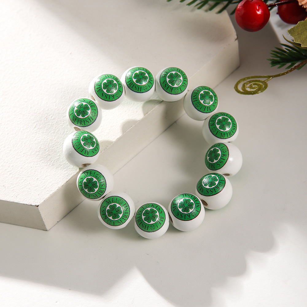
M 195 194 L 181 193 L 169 203 L 168 210 L 157 203 L 146 203 L 135 210 L 130 196 L 112 191 L 112 173 L 103 165 L 95 164 L 99 155 L 99 142 L 92 134 L 102 119 L 101 109 L 113 109 L 126 95 L 134 101 L 146 101 L 156 91 L 167 102 L 183 99 L 189 117 L 204 121 L 202 134 L 209 144 L 205 167 L 209 171 L 196 184 Z M 76 130 L 64 141 L 63 152 L 67 161 L 79 168 L 79 192 L 89 200 L 100 201 L 98 217 L 111 229 L 125 227 L 134 217 L 135 230 L 147 239 L 158 238 L 169 227 L 191 231 L 204 220 L 205 208 L 220 209 L 228 204 L 232 186 L 228 176 L 235 175 L 242 165 L 242 154 L 230 143 L 237 138 L 239 128 L 234 117 L 216 112 L 218 98 L 212 88 L 198 86 L 188 91 L 185 72 L 169 67 L 158 72 L 156 78 L 144 67 L 127 69 L 122 77 L 112 74 L 96 76 L 89 86 L 90 98 L 73 101 L 67 110 L 68 124 Z

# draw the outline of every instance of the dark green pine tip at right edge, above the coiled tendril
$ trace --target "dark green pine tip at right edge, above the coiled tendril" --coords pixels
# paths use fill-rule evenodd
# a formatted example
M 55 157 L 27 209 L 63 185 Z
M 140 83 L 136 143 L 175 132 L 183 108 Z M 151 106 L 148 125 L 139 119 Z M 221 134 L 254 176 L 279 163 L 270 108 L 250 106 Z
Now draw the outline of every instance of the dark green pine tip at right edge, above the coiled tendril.
M 292 44 L 292 42 L 290 43 Z M 281 44 L 281 45 L 284 48 L 275 47 L 275 49 L 271 50 L 270 52 L 272 58 L 267 60 L 270 61 L 271 67 L 278 66 L 278 68 L 282 68 L 288 65 L 285 67 L 285 69 L 289 69 L 294 65 L 299 64 L 307 59 L 307 49 L 301 48 L 294 44 L 292 45 Z M 303 66 L 305 66 L 305 64 L 299 66 L 297 70 L 301 69 Z

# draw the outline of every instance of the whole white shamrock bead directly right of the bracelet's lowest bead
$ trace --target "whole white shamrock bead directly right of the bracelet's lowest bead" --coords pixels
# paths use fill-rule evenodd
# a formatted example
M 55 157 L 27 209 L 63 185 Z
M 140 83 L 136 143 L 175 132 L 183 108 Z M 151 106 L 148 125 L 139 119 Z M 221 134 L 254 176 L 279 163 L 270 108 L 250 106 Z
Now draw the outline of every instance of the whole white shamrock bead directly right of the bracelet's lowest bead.
M 200 226 L 205 217 L 201 200 L 190 193 L 177 195 L 168 208 L 173 226 L 181 231 L 191 231 Z

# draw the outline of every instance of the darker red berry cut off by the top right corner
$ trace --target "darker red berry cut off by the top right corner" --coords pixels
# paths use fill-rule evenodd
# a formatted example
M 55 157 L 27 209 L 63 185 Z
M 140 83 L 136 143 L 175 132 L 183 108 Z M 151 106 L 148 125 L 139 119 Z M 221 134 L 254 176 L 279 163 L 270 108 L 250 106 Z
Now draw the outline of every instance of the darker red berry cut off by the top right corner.
M 306 9 L 300 6 L 297 1 L 279 5 L 277 11 L 283 21 L 293 25 L 307 17 Z

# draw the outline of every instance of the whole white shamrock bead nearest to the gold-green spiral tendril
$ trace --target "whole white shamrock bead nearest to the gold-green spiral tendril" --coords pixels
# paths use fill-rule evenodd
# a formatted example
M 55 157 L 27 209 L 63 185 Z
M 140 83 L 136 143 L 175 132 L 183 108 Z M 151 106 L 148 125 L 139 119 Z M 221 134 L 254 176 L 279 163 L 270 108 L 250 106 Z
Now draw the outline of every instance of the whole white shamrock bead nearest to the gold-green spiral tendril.
M 212 88 L 204 85 L 197 86 L 185 95 L 183 107 L 192 119 L 205 120 L 217 111 L 218 98 Z

